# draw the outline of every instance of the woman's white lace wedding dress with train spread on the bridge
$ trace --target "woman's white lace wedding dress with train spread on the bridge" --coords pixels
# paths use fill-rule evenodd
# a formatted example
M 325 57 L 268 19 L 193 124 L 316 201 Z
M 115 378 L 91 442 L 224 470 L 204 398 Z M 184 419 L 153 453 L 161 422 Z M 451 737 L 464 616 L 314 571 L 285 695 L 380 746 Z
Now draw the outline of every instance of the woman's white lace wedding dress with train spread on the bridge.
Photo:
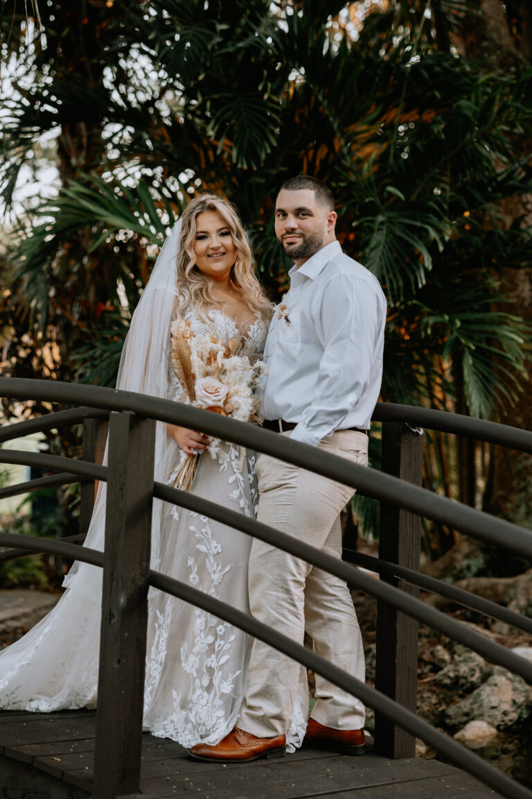
M 213 331 L 194 312 L 187 314 L 194 334 Z M 234 322 L 211 314 L 215 335 L 234 336 Z M 232 327 L 231 327 L 232 326 Z M 246 331 L 246 354 L 262 352 L 266 325 L 256 320 Z M 182 400 L 173 370 L 168 370 L 167 398 Z M 179 463 L 179 447 L 165 449 Z M 248 516 L 258 502 L 254 453 L 241 457 L 225 443 L 222 462 L 207 451 L 199 459 L 193 491 Z M 169 481 L 171 475 L 166 477 Z M 100 487 L 104 491 L 104 487 Z M 156 501 L 157 502 L 157 501 Z M 155 503 L 154 503 L 155 504 Z M 247 561 L 251 539 L 206 516 L 160 503 L 160 535 L 152 567 L 249 613 Z M 88 546 L 103 549 L 104 502 L 97 503 Z M 75 564 L 65 578 L 67 590 L 57 606 L 18 642 L 0 653 L 0 707 L 10 710 L 75 709 L 97 704 L 101 573 Z M 184 746 L 214 744 L 238 718 L 246 681 L 250 638 L 204 610 L 159 590 L 148 600 L 148 648 L 144 686 L 144 729 Z M 308 700 L 305 675 L 289 747 L 301 745 Z

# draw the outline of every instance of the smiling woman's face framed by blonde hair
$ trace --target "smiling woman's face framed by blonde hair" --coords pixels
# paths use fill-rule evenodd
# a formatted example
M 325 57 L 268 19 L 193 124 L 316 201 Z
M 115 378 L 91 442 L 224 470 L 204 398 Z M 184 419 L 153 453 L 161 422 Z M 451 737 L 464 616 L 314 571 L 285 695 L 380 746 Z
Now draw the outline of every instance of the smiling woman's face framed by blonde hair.
M 195 222 L 195 265 L 211 280 L 226 283 L 237 256 L 230 229 L 215 211 L 199 213 Z

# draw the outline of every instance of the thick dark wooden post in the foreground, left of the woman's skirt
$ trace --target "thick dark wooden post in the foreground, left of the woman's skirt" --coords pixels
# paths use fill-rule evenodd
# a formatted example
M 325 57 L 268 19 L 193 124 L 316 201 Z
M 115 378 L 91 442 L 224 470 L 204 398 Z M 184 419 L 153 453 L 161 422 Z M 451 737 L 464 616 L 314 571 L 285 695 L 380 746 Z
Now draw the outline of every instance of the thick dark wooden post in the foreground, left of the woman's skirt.
M 155 422 L 112 413 L 93 796 L 139 793 Z

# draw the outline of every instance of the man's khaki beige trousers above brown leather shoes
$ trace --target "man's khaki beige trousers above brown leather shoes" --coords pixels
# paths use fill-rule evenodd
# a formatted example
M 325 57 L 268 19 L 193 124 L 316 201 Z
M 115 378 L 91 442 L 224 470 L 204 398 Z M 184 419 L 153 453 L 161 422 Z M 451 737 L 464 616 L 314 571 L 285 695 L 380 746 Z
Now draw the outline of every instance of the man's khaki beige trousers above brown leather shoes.
M 368 436 L 364 433 L 337 431 L 323 439 L 318 448 L 368 464 Z M 257 458 L 257 478 L 259 522 L 341 558 L 340 511 L 353 495 L 353 488 L 263 454 Z M 249 591 L 255 618 L 300 644 L 306 630 L 317 654 L 364 682 L 361 631 L 343 580 L 254 539 Z M 258 737 L 287 733 L 299 674 L 297 662 L 255 639 L 238 727 Z M 319 675 L 316 697 L 312 711 L 316 721 L 334 729 L 364 726 L 365 710 L 360 700 Z

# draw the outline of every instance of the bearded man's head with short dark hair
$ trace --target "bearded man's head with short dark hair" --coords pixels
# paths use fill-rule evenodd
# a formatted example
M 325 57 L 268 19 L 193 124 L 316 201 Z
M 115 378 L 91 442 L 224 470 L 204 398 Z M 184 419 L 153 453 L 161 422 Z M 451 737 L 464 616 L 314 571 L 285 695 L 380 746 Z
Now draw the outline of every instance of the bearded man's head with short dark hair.
M 279 244 L 301 266 L 334 240 L 336 213 L 318 205 L 313 189 L 281 189 L 275 204 L 275 235 Z

